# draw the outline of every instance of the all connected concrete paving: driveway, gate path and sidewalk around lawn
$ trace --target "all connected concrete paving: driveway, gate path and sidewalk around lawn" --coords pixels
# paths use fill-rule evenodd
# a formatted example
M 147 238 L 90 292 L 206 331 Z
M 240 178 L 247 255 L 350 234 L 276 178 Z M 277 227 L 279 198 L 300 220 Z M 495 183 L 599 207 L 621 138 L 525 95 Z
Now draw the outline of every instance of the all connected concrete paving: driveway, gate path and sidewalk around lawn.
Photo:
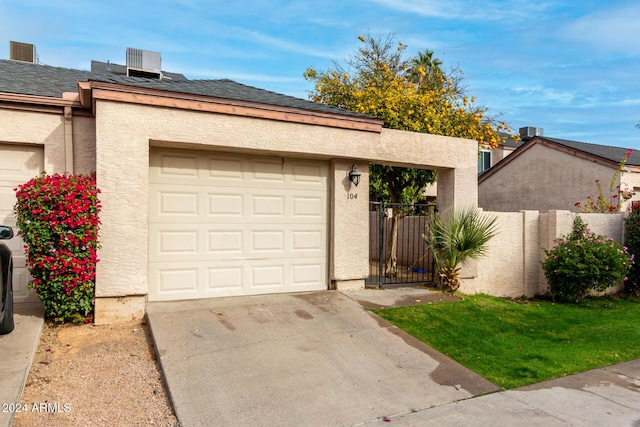
M 442 297 L 328 291 L 147 314 L 182 427 L 640 426 L 640 361 L 499 392 L 362 307 Z

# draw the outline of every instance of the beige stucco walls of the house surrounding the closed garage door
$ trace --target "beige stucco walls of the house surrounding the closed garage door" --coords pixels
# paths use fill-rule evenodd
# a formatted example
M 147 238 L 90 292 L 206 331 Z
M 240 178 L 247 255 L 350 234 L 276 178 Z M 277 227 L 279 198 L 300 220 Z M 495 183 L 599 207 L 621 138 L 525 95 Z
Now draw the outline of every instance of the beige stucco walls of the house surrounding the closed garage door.
M 15 124 L 0 129 L 0 144 L 44 146 L 47 173 L 96 172 L 102 204 L 97 323 L 144 314 L 149 291 L 151 147 L 328 161 L 329 288 L 362 288 L 369 274 L 370 163 L 437 170 L 440 209 L 477 202 L 475 141 L 379 125 L 376 130 L 355 122 L 350 126 L 349 121 L 355 119 L 349 117 L 316 120 L 304 113 L 289 120 L 287 114 L 274 116 L 271 111 L 252 116 L 235 107 L 218 112 L 200 102 L 155 102 L 162 93 L 157 98 L 146 93 L 142 98 L 124 99 L 122 93 L 127 89 L 122 87 L 114 98 L 103 87 L 91 94 L 89 86 L 80 86 L 78 96 L 66 95 L 54 105 L 34 105 L 31 111 L 23 106 L 0 108 L 0 119 Z M 49 102 L 33 100 L 34 104 Z M 358 187 L 348 179 L 353 165 L 362 173 Z M 469 274 L 473 277 L 475 270 Z

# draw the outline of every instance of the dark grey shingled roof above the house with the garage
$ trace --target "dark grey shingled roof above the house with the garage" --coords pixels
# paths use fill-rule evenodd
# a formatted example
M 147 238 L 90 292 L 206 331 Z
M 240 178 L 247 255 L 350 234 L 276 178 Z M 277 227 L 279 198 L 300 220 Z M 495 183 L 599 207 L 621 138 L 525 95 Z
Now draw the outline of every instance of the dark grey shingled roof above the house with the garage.
M 79 81 L 98 81 L 321 113 L 370 117 L 342 108 L 243 85 L 233 80 L 189 80 L 182 74 L 164 71 L 162 79 L 127 77 L 125 66 L 99 61 L 92 61 L 91 69 L 91 71 L 81 71 L 0 60 L 0 92 L 61 98 L 63 92 L 77 92 Z

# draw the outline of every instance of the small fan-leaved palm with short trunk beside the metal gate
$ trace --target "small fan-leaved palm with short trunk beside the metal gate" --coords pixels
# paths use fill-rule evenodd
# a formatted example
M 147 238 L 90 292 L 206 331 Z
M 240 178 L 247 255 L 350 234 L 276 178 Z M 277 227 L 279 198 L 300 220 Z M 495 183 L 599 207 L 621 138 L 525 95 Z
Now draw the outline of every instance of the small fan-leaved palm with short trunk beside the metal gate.
M 497 232 L 496 219 L 476 207 L 447 209 L 433 217 L 424 238 L 433 253 L 443 289 L 458 289 L 461 266 L 469 259 L 486 255 L 487 242 Z

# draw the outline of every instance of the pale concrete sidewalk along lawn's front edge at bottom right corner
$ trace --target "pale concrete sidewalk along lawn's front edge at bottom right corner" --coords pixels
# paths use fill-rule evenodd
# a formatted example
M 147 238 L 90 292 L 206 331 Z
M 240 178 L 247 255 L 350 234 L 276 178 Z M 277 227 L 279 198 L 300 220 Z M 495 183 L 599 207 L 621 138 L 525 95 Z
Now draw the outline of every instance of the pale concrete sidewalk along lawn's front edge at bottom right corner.
M 640 360 L 375 420 L 367 426 L 640 426 Z

